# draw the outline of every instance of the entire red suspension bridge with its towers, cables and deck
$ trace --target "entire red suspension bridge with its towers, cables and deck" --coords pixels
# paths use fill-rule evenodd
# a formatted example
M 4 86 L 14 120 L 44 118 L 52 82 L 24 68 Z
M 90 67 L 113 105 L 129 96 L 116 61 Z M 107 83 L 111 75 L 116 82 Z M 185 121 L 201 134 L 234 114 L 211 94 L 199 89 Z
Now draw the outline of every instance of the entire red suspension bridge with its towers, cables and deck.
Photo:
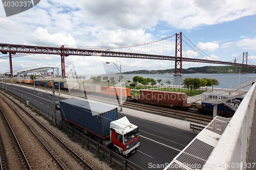
M 184 45 L 185 44 L 185 45 Z M 184 50 L 185 49 L 185 50 Z M 130 51 L 130 52 L 127 52 Z M 133 51 L 133 52 L 131 52 Z M 136 53 L 135 53 L 136 52 Z M 224 62 L 212 59 L 209 55 L 202 52 L 196 45 L 189 41 L 183 34 L 174 34 L 159 40 L 123 45 L 123 46 L 87 46 L 87 47 L 70 47 L 70 46 L 32 46 L 0 43 L 0 53 L 9 56 L 0 57 L 0 59 L 9 58 L 10 74 L 13 75 L 12 58 L 22 57 L 32 54 L 50 54 L 60 55 L 61 73 L 65 76 L 65 57 L 75 56 L 101 56 L 101 57 L 120 57 L 120 58 L 138 58 L 138 59 L 155 59 L 155 60 L 173 60 L 175 61 L 175 75 L 182 75 L 182 62 L 200 62 L 224 65 L 242 66 L 242 72 L 247 72 L 247 66 L 255 67 L 256 65 L 247 64 L 248 53 L 243 53 L 242 63 Z M 23 53 L 23 54 L 19 54 Z M 185 53 L 185 55 L 184 55 Z M 188 55 L 193 54 L 193 55 Z M 201 56 L 201 58 L 195 58 Z

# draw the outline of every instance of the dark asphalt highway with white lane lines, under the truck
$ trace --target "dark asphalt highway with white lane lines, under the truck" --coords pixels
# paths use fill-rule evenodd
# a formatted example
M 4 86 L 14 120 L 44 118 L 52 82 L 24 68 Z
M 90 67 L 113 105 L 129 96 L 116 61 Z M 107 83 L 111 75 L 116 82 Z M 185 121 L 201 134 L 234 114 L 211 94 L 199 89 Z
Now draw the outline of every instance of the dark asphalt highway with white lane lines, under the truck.
M 11 84 L 8 84 L 7 90 L 54 115 L 51 108 L 52 96 L 50 93 L 38 92 L 37 90 L 29 89 L 24 86 L 19 87 Z M 55 95 L 56 100 L 66 99 L 61 95 L 58 96 L 58 93 Z M 59 110 L 57 110 L 56 113 L 57 122 L 60 123 Z M 118 113 L 119 118 L 123 116 L 125 115 Z M 144 169 L 163 169 L 196 136 L 195 133 L 157 124 L 137 117 L 126 116 L 131 123 L 139 127 L 141 136 L 141 144 L 138 151 L 126 158 Z

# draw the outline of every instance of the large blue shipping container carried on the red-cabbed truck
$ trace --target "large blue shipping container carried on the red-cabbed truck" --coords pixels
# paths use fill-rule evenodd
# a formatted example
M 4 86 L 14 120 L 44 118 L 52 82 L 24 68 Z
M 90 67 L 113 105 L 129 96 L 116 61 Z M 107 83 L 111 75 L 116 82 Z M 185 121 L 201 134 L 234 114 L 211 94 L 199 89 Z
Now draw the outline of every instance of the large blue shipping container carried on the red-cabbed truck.
M 110 123 L 117 119 L 117 108 L 98 103 L 66 99 L 60 101 L 62 119 L 101 138 L 108 138 Z

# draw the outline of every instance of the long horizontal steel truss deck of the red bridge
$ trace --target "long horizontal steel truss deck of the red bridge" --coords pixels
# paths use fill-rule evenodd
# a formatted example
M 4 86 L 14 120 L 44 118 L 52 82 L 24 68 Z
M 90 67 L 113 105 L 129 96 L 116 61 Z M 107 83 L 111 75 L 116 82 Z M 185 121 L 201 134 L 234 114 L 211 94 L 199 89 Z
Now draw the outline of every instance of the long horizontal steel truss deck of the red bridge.
M 4 44 L 0 43 L 0 52 L 2 54 L 16 54 L 16 53 L 27 53 L 27 54 L 51 54 L 60 55 L 61 58 L 70 55 L 76 56 L 101 56 L 101 57 L 120 57 L 120 58 L 138 58 L 138 59 L 155 59 L 155 60 L 180 60 L 180 57 L 175 56 L 161 56 L 151 54 L 138 54 L 138 53 L 124 53 L 124 52 L 112 52 L 112 51 L 100 51 L 100 50 L 86 50 L 79 48 L 67 48 L 64 45 L 59 47 L 49 46 L 32 46 L 32 45 L 17 45 L 17 44 Z M 11 58 L 11 57 L 10 57 Z M 247 65 L 233 62 L 224 62 L 217 60 L 204 60 L 196 58 L 185 58 L 182 57 L 182 61 L 187 62 L 200 62 L 200 63 L 213 63 L 213 64 L 224 64 L 224 65 L 239 65 L 255 67 L 256 65 Z M 61 60 L 61 62 L 63 62 Z M 62 73 L 65 72 L 62 68 Z M 62 75 L 63 76 L 63 75 Z

